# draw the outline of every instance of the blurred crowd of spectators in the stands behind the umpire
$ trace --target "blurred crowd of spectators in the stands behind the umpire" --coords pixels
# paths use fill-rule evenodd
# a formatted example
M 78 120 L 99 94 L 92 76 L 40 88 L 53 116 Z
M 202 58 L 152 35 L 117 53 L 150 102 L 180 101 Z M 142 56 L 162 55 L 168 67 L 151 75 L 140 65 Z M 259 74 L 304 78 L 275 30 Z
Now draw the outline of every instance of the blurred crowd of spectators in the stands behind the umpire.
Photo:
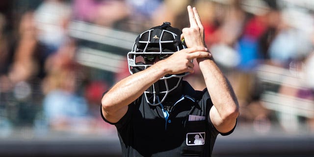
M 301 4 L 1 0 L 0 136 L 20 128 L 36 135 L 114 131 L 100 117 L 100 101 L 103 92 L 129 71 L 126 64 L 121 64 L 125 70 L 113 73 L 79 64 L 76 54 L 83 42 L 69 34 L 69 25 L 82 21 L 136 34 L 162 22 L 182 29 L 189 26 L 187 5 L 197 7 L 206 44 L 234 87 L 240 104 L 238 124 L 259 133 L 274 126 L 314 132 L 314 4 Z M 185 79 L 197 90 L 205 87 L 197 66 Z M 268 100 L 269 93 L 276 97 Z

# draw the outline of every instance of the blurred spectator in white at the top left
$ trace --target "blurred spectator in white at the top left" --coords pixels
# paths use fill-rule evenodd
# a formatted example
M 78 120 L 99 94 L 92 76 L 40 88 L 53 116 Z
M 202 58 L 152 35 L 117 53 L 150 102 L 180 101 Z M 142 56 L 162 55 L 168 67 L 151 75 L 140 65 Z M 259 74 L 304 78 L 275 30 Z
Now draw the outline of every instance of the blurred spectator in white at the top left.
M 34 11 L 36 38 L 44 45 L 44 56 L 56 52 L 67 40 L 72 10 L 67 0 L 44 0 Z

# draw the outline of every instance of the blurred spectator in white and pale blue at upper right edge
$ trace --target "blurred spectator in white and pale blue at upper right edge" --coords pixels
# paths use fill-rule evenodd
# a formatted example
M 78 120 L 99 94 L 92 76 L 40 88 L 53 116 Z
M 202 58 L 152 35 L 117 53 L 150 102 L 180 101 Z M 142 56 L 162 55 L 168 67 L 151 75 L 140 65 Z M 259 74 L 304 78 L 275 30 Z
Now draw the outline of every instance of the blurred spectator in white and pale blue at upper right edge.
M 303 9 L 282 10 L 280 27 L 269 46 L 271 63 L 289 68 L 294 60 L 303 60 L 313 50 L 314 19 Z

